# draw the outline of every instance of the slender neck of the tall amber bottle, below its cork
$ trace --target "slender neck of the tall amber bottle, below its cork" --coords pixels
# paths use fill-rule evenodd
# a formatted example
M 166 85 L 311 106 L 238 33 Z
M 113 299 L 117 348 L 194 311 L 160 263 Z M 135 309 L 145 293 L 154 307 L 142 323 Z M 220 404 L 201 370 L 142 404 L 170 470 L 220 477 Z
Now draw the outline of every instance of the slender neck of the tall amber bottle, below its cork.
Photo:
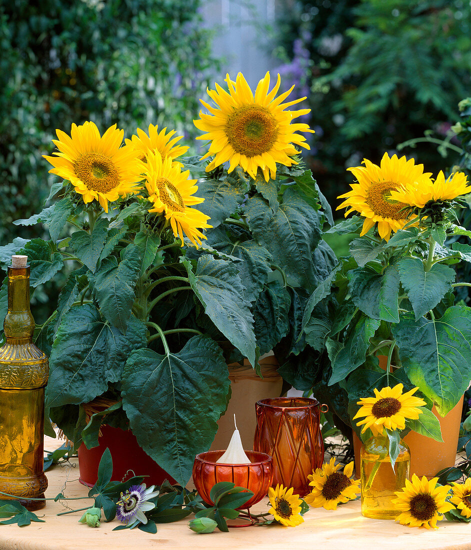
M 29 266 L 8 266 L 8 313 L 3 329 L 9 344 L 32 341 L 35 322 L 30 311 L 29 278 Z

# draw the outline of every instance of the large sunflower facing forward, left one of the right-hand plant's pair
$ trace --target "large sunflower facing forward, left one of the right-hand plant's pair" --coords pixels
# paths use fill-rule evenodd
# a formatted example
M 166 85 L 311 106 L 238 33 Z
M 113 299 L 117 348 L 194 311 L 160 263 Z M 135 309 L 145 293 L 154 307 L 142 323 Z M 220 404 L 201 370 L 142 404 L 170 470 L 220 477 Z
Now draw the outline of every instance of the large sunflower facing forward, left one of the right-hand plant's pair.
M 401 184 L 412 183 L 419 188 L 430 182 L 431 173 L 424 174 L 423 164 L 414 164 L 414 159 L 406 157 L 391 158 L 387 153 L 381 159 L 380 166 L 366 158 L 365 166 L 347 168 L 357 178 L 351 183 L 352 190 L 338 199 L 345 199 L 339 208 L 347 208 L 345 216 L 357 211 L 365 218 L 360 235 L 367 233 L 376 223 L 381 239 L 388 241 L 392 231 L 402 229 L 408 222 L 408 213 L 403 210 L 408 204 L 391 198 L 391 191 Z

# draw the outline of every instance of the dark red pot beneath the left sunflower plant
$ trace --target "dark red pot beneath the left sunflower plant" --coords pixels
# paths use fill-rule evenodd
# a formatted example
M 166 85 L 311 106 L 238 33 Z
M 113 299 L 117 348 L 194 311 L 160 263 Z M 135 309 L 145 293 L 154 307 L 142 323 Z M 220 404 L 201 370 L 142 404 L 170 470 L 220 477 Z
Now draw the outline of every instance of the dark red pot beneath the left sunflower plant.
M 133 475 L 129 470 L 133 470 L 136 476 L 149 476 L 144 478 L 147 487 L 161 485 L 165 480 L 177 483 L 139 447 L 138 441 L 131 431 L 103 424 L 98 443 L 98 447 L 92 449 L 87 449 L 83 443 L 79 447 L 79 481 L 83 485 L 87 487 L 95 485 L 98 477 L 98 464 L 107 448 L 113 459 L 111 481 L 122 481 L 124 478 L 129 478 Z

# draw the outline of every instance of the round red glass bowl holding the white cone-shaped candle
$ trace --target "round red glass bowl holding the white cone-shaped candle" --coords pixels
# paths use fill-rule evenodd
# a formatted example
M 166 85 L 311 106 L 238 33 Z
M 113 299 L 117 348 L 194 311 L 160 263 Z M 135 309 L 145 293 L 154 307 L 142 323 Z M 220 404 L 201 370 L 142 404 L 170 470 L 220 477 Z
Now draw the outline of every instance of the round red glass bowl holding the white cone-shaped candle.
M 271 486 L 272 458 L 266 453 L 246 450 L 250 464 L 221 464 L 216 460 L 224 454 L 223 450 L 209 450 L 196 455 L 193 464 L 193 482 L 206 504 L 214 505 L 210 491 L 220 481 L 232 481 L 238 487 L 245 487 L 254 496 L 238 508 L 247 510 L 264 498 Z

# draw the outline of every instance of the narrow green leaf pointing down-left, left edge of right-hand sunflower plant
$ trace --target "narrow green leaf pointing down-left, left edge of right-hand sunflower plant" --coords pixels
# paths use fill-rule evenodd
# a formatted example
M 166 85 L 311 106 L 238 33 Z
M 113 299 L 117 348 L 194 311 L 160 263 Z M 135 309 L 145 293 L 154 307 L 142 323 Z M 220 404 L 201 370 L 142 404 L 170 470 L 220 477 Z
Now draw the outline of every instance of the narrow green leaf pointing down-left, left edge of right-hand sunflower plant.
M 361 315 L 358 322 L 349 329 L 343 345 L 329 353 L 332 361 L 332 376 L 328 381 L 329 386 L 340 382 L 365 362 L 366 351 L 372 338 L 380 326 L 380 322 Z

